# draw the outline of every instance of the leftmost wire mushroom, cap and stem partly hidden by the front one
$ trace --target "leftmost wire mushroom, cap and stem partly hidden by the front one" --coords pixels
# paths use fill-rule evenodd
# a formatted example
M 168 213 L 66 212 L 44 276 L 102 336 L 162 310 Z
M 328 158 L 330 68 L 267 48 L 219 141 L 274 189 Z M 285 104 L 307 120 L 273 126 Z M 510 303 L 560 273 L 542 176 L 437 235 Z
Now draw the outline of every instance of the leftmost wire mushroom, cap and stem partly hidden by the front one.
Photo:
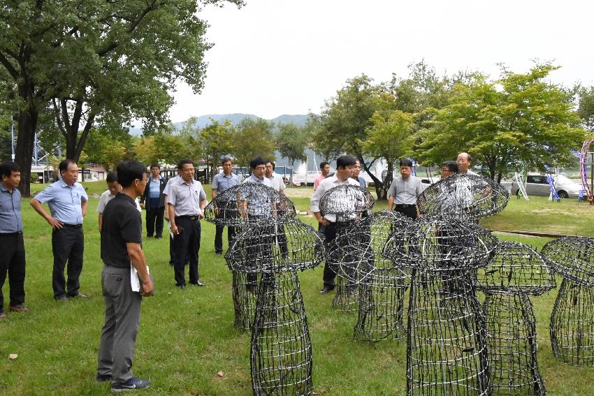
M 275 189 L 263 184 L 243 183 L 226 189 L 204 210 L 207 221 L 221 226 L 235 227 L 240 233 L 247 226 L 263 218 L 294 218 L 295 205 Z M 231 246 L 232 241 L 229 241 Z M 258 274 L 232 272 L 231 295 L 235 311 L 235 327 L 252 328 L 256 305 Z

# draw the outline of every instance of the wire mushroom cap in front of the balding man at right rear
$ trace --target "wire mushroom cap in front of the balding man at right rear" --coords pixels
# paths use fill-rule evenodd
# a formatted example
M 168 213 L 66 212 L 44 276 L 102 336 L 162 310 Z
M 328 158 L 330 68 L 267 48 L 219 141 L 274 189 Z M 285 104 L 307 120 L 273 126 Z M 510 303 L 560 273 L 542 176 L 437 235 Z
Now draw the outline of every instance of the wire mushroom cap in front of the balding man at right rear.
M 425 216 L 448 216 L 478 221 L 507 206 L 509 193 L 486 177 L 457 173 L 432 184 L 416 203 Z

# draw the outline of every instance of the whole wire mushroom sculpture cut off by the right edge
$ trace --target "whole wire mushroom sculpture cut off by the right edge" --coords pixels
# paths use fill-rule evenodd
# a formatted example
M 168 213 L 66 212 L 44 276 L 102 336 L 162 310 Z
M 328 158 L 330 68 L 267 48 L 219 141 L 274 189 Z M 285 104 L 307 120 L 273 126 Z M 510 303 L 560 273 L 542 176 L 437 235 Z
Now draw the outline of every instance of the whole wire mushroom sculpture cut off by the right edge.
M 573 366 L 594 366 L 594 238 L 558 238 L 541 253 L 563 277 L 551 314 L 553 353 Z

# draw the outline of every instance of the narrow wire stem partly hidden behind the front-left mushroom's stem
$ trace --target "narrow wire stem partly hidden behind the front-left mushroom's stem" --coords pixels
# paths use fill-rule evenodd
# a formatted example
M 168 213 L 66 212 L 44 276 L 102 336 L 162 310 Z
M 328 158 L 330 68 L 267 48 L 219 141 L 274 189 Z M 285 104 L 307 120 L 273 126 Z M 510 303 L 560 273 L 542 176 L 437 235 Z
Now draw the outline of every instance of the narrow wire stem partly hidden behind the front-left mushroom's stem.
M 254 324 L 254 311 L 256 310 L 256 296 L 258 279 L 256 274 L 233 271 L 231 295 L 233 296 L 233 309 L 235 322 L 233 325 L 241 330 L 251 330 Z

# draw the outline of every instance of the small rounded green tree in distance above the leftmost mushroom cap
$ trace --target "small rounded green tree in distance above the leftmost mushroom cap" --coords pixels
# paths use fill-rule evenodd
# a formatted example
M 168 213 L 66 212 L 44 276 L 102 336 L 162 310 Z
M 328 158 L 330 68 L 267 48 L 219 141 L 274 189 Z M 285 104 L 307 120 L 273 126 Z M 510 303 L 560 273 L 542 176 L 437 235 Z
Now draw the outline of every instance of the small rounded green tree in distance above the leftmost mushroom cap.
M 275 138 L 273 122 L 266 119 L 244 118 L 233 134 L 233 154 L 239 166 L 249 167 L 249 161 L 256 156 L 264 159 L 275 159 Z

